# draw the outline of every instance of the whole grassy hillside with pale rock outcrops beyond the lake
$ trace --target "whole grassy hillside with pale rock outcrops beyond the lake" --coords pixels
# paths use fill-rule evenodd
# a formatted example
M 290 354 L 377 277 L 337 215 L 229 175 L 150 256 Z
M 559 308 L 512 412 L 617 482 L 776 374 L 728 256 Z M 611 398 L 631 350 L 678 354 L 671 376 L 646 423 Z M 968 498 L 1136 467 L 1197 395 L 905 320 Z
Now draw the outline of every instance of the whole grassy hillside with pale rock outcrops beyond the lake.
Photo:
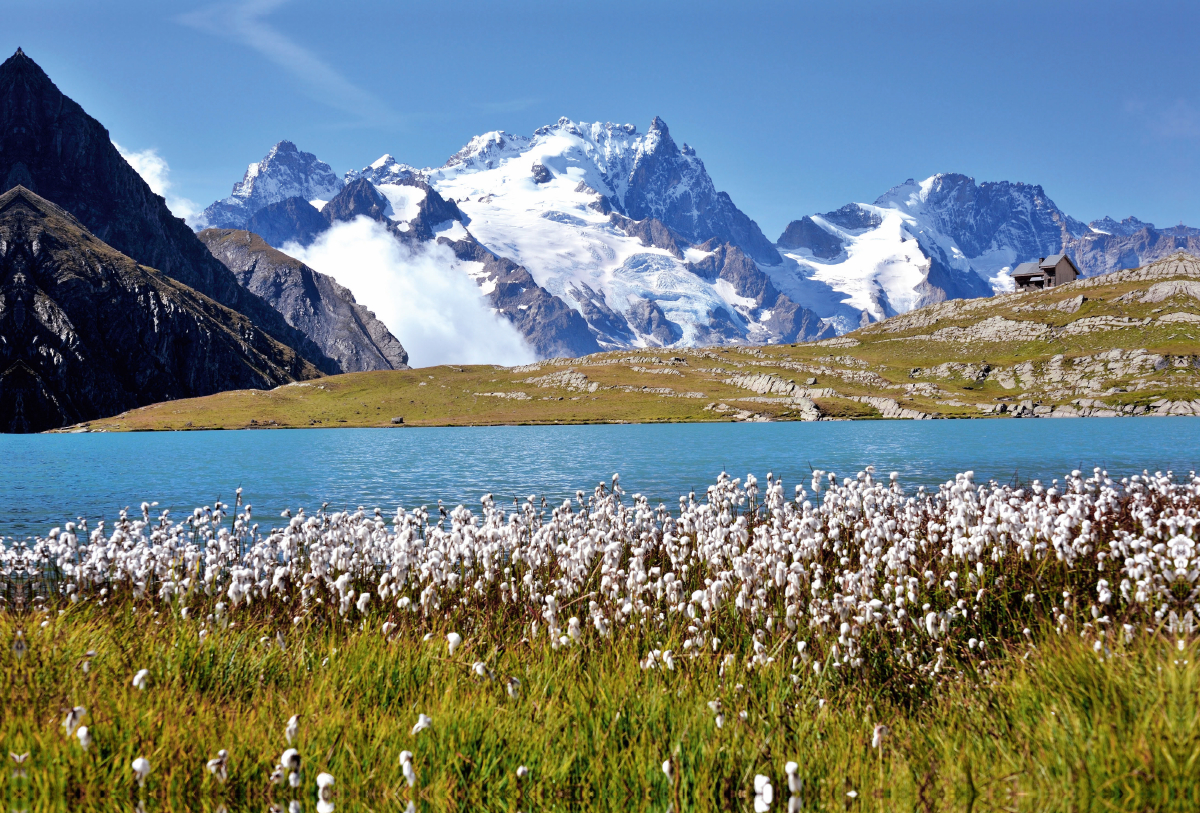
M 76 430 L 1200 412 L 1200 261 L 955 300 L 824 342 L 336 375 Z

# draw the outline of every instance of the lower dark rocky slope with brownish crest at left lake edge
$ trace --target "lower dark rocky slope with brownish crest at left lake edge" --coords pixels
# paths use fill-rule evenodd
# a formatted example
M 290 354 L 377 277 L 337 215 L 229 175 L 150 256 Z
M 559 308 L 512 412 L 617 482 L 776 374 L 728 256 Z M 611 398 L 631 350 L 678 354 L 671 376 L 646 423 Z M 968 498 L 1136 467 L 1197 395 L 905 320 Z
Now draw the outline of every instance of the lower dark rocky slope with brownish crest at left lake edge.
M 0 430 L 319 371 L 236 313 L 134 263 L 24 187 L 0 195 Z

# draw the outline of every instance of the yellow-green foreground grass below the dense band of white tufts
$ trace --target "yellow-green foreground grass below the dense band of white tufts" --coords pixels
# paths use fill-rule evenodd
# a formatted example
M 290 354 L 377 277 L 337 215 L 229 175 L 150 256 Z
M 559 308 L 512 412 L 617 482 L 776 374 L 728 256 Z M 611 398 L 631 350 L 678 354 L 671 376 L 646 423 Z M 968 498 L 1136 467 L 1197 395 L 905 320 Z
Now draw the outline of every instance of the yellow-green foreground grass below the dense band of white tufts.
M 961 678 L 910 693 L 839 681 L 834 670 L 793 673 L 782 655 L 760 670 L 739 661 L 724 676 L 710 654 L 679 657 L 672 672 L 638 667 L 647 646 L 678 646 L 682 628 L 554 651 L 545 634 L 511 643 L 502 621 L 460 614 L 464 643 L 449 657 L 446 625 L 434 622 L 430 642 L 407 626 L 389 642 L 383 615 L 280 627 L 264 610 L 202 640 L 196 620 L 132 601 L 64 609 L 46 627 L 0 615 L 4 640 L 23 627 L 29 642 L 23 658 L 8 646 L 0 657 L 0 736 L 8 751 L 31 753 L 28 778 L 4 772 L 0 784 L 10 799 L 49 807 L 127 808 L 142 796 L 148 809 L 262 809 L 295 797 L 312 809 L 316 776 L 328 771 L 340 809 L 395 809 L 409 799 L 438 811 L 750 809 L 748 789 L 764 773 L 782 811 L 788 760 L 800 766 L 804 809 L 1200 805 L 1200 649 L 1178 651 L 1163 637 L 1102 658 L 1048 633 L 1037 646 L 996 652 L 986 675 L 964 664 Z M 260 643 L 276 633 L 286 650 Z M 475 661 L 496 679 L 476 676 Z M 144 692 L 131 685 L 142 668 Z M 521 681 L 516 698 L 505 692 L 509 676 Z M 722 728 L 707 705 L 714 699 Z M 88 707 L 88 752 L 61 725 L 73 705 Z M 433 725 L 413 736 L 419 713 Z M 268 779 L 292 715 L 304 760 L 295 791 Z M 892 731 L 882 749 L 870 745 L 877 723 Z M 230 754 L 224 785 L 204 770 L 220 748 Z M 413 790 L 398 763 L 404 749 L 414 753 Z M 138 755 L 152 766 L 142 791 L 130 772 Z

